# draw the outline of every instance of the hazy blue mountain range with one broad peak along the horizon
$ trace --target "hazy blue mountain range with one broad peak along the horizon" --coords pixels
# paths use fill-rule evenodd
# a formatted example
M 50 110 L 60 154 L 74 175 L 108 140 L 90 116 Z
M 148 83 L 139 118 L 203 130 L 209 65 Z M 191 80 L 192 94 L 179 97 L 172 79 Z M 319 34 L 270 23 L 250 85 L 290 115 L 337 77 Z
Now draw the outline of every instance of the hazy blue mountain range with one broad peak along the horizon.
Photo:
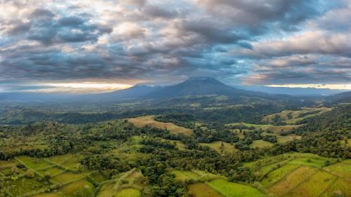
M 266 100 L 277 98 L 291 99 L 291 95 L 321 95 L 326 90 L 315 88 L 270 88 L 270 87 L 244 87 L 227 86 L 224 83 L 209 77 L 191 78 L 173 86 L 145 86 L 136 85 L 124 90 L 111 93 L 93 95 L 72 94 L 38 94 L 38 93 L 0 93 L 0 100 L 8 101 L 123 101 L 123 100 L 166 100 L 174 97 L 190 95 L 224 95 L 231 98 L 258 97 Z M 263 93 L 268 92 L 268 93 Z M 309 94 L 307 94 L 309 93 Z M 329 91 L 328 93 L 339 93 Z M 334 97 L 338 97 L 335 95 Z M 350 98 L 350 92 L 340 96 L 343 100 Z M 335 100 L 335 99 L 334 99 Z

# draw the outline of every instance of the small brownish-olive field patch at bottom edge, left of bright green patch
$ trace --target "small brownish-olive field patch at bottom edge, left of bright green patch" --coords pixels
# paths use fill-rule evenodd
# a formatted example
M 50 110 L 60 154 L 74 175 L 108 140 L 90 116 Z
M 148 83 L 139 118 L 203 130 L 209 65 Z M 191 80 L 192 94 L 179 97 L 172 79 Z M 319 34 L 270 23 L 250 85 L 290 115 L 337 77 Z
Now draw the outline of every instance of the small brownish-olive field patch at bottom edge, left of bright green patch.
M 194 197 L 222 197 L 218 191 L 205 183 L 190 184 L 187 186 L 190 196 Z

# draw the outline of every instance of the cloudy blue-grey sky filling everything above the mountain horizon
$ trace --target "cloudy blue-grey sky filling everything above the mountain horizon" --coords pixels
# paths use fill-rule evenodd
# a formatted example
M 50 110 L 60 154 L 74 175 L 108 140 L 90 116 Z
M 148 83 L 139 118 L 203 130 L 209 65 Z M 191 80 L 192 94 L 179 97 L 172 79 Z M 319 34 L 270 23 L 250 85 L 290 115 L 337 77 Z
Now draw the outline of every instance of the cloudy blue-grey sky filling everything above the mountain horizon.
M 351 89 L 351 1 L 0 0 L 0 91 Z

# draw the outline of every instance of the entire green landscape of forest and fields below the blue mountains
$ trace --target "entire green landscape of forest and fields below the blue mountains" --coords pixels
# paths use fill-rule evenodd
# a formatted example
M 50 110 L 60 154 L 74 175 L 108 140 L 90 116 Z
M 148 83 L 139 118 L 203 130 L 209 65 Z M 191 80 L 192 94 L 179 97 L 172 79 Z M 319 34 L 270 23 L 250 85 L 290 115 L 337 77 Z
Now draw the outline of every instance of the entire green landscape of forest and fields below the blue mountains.
M 351 196 L 350 104 L 230 102 L 3 108 L 0 196 Z

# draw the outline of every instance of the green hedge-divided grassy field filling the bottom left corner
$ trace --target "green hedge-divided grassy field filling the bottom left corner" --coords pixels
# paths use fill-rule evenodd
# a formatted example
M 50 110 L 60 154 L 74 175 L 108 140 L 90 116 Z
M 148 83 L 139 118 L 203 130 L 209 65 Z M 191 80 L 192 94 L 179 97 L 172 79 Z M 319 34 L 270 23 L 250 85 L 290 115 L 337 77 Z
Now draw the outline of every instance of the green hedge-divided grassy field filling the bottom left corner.
M 86 172 L 86 170 L 84 172 L 68 172 L 65 165 L 58 164 L 61 161 L 66 161 L 67 158 L 69 158 L 67 155 L 45 159 L 18 156 L 13 161 L 0 161 L 1 164 L 4 164 L 3 166 L 6 166 L 6 168 L 1 168 L 0 172 L 8 172 L 6 177 L 3 177 L 5 180 L 4 189 L 13 196 L 93 196 L 95 186 L 87 179 L 91 172 Z M 27 171 L 32 170 L 34 177 L 27 177 L 27 171 L 21 169 L 18 169 L 18 174 L 14 175 L 11 166 L 19 163 L 25 165 Z M 50 175 L 48 180 L 42 178 L 46 174 Z M 55 189 L 54 193 L 45 193 L 45 191 L 50 191 L 49 187 L 58 183 L 61 184 L 61 187 Z

